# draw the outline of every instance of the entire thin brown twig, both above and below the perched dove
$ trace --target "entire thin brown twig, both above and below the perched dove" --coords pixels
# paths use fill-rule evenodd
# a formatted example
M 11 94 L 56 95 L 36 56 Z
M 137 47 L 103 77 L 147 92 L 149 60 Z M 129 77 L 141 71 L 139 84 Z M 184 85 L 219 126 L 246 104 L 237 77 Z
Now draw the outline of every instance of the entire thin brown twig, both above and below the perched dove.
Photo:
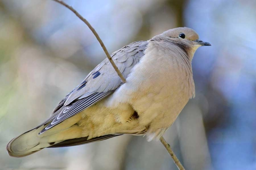
M 101 44 L 101 47 L 103 49 L 103 51 L 105 52 L 106 56 L 109 59 L 109 62 L 112 64 L 114 70 L 117 72 L 118 76 L 121 78 L 121 80 L 123 81 L 123 83 L 126 82 L 124 76 L 122 75 L 122 73 L 118 70 L 116 64 L 114 63 L 114 61 L 112 60 L 111 56 L 109 55 L 108 50 L 106 49 L 105 45 L 103 44 L 101 38 L 99 37 L 98 33 L 95 31 L 95 29 L 91 26 L 91 24 L 84 19 L 84 17 L 82 17 L 82 15 L 80 15 L 73 7 L 69 6 L 68 4 L 64 3 L 61 0 L 53 0 L 56 1 L 57 3 L 60 3 L 62 5 L 64 5 L 65 7 L 67 7 L 68 9 L 70 9 L 72 12 L 75 13 L 76 16 L 79 17 L 80 20 L 82 20 L 93 32 L 94 36 L 97 38 L 97 40 L 99 41 L 99 44 Z M 176 166 L 178 167 L 179 170 L 185 170 L 185 168 L 181 165 L 180 161 L 178 160 L 178 158 L 176 157 L 176 155 L 174 154 L 174 152 L 172 151 L 170 145 L 165 141 L 165 139 L 163 137 L 160 138 L 160 141 L 162 142 L 163 146 L 166 148 L 166 150 L 168 151 L 168 153 L 170 154 L 170 156 L 172 157 L 174 163 L 176 164 Z

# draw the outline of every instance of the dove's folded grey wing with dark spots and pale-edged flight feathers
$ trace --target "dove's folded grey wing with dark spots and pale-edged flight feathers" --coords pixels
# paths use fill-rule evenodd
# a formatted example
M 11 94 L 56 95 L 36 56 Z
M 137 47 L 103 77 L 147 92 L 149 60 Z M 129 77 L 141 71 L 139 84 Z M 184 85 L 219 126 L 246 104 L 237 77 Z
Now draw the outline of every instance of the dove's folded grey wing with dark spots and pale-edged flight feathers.
M 147 41 L 136 41 L 113 52 L 111 57 L 124 78 L 127 78 L 131 69 L 144 56 L 147 44 Z M 86 76 L 79 86 L 74 88 L 59 102 L 52 116 L 42 124 L 52 122 L 40 134 L 97 103 L 114 92 L 122 84 L 121 79 L 106 58 Z

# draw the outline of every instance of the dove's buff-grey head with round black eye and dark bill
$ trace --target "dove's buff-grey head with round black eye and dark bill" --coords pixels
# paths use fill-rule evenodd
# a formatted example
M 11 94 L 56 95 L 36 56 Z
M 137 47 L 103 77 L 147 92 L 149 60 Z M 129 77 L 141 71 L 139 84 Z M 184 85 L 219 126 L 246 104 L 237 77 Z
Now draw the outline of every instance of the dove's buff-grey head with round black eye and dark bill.
M 178 27 L 169 29 L 160 35 L 153 37 L 153 41 L 164 41 L 172 46 L 178 46 L 192 60 L 195 51 L 201 46 L 211 46 L 210 43 L 199 40 L 198 34 L 191 28 Z

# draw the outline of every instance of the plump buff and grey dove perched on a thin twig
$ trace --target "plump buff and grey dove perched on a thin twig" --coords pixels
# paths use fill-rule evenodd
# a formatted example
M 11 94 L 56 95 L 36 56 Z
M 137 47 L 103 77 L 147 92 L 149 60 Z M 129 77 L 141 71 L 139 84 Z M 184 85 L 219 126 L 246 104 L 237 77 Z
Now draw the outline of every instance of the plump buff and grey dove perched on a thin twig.
M 195 97 L 192 59 L 211 46 L 191 28 L 169 29 L 112 53 L 123 83 L 106 58 L 64 97 L 50 117 L 7 144 L 11 157 L 123 134 L 158 140 Z

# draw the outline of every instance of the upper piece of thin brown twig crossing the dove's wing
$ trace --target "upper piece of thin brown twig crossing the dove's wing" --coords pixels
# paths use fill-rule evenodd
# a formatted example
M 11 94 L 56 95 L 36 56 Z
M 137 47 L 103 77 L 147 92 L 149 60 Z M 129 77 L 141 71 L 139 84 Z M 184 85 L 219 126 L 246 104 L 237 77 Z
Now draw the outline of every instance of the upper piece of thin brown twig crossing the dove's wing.
M 116 64 L 114 63 L 114 61 L 112 60 L 111 56 L 109 55 L 109 52 L 107 50 L 107 48 L 105 47 L 105 45 L 103 44 L 101 38 L 99 37 L 98 33 L 95 31 L 95 29 L 91 26 L 91 24 L 84 19 L 84 17 L 82 17 L 82 15 L 80 15 L 73 7 L 69 6 L 68 4 L 66 4 L 65 2 L 61 1 L 61 0 L 53 0 L 56 1 L 57 3 L 60 3 L 61 5 L 64 5 L 65 7 L 67 7 L 68 9 L 70 9 L 72 12 L 75 13 L 76 16 L 78 16 L 80 18 L 80 20 L 82 20 L 90 29 L 91 32 L 93 32 L 93 34 L 95 35 L 95 37 L 97 38 L 97 40 L 99 41 L 99 44 L 101 44 L 101 47 L 103 49 L 103 51 L 105 52 L 107 58 L 109 59 L 109 62 L 112 64 L 113 68 L 116 70 L 118 76 L 121 78 L 122 82 L 125 83 L 126 80 L 124 78 L 124 76 L 122 75 L 122 73 L 118 70 Z

